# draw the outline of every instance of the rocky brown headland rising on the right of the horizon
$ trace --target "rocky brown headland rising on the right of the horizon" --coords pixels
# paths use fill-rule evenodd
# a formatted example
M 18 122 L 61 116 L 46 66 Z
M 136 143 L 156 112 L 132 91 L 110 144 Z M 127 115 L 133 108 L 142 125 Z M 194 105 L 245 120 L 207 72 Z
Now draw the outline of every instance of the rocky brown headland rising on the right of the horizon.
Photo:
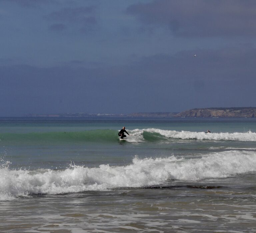
M 175 117 L 256 117 L 256 107 L 195 108 L 180 112 Z

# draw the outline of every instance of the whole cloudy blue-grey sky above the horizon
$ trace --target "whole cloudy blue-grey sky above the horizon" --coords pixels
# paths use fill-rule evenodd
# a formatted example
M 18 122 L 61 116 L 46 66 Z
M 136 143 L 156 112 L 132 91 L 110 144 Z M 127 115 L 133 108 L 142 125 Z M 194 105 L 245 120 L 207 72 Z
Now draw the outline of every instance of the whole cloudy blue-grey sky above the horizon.
M 0 33 L 0 117 L 256 106 L 256 1 L 0 0 Z

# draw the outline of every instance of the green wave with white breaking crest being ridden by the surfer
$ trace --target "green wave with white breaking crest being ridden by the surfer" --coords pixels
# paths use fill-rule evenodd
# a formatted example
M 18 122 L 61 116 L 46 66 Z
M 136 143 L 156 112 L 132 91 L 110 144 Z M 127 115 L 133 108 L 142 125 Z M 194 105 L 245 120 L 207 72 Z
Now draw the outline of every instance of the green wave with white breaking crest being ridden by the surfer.
M 175 131 L 162 129 L 134 129 L 128 131 L 130 136 L 127 142 L 158 142 L 170 139 L 198 139 L 198 140 L 231 140 L 231 141 L 256 141 L 256 133 L 205 133 L 190 131 Z M 81 132 L 48 132 L 48 133 L 1 133 L 2 144 L 40 144 L 40 143 L 83 143 L 106 142 L 116 143 L 118 131 L 112 129 L 88 130 Z

